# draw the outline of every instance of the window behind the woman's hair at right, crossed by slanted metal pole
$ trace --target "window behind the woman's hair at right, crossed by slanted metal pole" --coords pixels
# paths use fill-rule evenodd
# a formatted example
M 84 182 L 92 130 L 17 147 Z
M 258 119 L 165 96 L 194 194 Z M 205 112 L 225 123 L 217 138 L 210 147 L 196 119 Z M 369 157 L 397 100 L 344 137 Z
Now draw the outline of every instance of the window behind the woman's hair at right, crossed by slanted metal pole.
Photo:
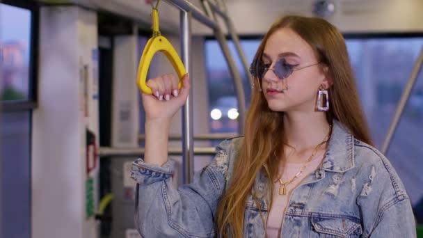
M 423 38 L 354 38 L 346 45 L 374 143 L 381 148 Z M 423 223 L 423 73 L 417 77 L 386 157 Z

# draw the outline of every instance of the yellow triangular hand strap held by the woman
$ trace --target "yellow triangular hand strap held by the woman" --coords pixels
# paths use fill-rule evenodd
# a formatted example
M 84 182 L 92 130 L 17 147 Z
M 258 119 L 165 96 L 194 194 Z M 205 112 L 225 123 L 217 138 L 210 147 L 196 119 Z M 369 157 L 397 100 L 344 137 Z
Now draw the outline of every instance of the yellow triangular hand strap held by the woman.
M 179 79 L 182 79 L 182 77 L 184 77 L 184 75 L 186 74 L 184 64 L 176 53 L 175 48 L 173 48 L 172 44 L 170 44 L 168 39 L 161 35 L 159 31 L 159 10 L 157 9 L 159 1 L 157 2 L 156 7 L 152 6 L 153 36 L 152 38 L 150 38 L 150 40 L 147 41 L 147 44 L 145 45 L 143 54 L 140 59 L 140 63 L 138 65 L 138 73 L 136 75 L 136 84 L 138 85 L 138 88 L 143 91 L 143 93 L 147 94 L 153 93 L 151 88 L 149 88 L 146 84 L 146 78 L 152 58 L 154 54 L 157 53 L 157 51 L 161 51 L 163 54 L 166 55 L 170 63 L 172 63 L 173 68 L 175 68 Z M 178 88 L 181 87 L 182 81 L 179 80 Z

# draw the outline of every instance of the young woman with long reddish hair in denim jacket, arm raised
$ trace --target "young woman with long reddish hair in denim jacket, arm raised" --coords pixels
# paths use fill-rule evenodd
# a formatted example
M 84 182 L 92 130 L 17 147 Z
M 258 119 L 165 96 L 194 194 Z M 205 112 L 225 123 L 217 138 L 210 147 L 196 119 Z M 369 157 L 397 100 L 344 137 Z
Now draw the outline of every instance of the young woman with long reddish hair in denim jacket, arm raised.
M 372 147 L 342 35 L 287 16 L 251 64 L 245 136 L 223 141 L 191 184 L 172 188 L 170 119 L 189 77 L 148 81 L 145 159 L 134 162 L 143 237 L 415 237 L 410 200 Z M 374 125 L 377 126 L 377 125 Z

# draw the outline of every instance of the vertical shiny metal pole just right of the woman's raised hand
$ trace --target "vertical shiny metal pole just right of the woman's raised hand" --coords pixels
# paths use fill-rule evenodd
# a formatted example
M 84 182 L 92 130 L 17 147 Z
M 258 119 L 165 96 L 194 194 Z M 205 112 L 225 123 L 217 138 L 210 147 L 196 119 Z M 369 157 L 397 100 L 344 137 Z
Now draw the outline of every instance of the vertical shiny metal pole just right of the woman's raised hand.
M 186 72 L 191 74 L 191 11 L 181 10 L 180 13 L 180 35 L 182 63 Z M 193 79 L 191 78 L 191 90 L 188 99 L 182 108 L 182 162 L 184 165 L 184 184 L 191 182 L 191 171 L 193 171 Z

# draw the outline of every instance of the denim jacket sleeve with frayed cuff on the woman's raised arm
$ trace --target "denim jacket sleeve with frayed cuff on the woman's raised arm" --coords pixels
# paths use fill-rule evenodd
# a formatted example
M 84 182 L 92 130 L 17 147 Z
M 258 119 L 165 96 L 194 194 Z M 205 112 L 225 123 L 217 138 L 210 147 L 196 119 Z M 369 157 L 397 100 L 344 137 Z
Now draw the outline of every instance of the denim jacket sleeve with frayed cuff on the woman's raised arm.
M 214 214 L 228 174 L 228 147 L 216 148 L 211 164 L 191 184 L 172 187 L 175 162 L 163 166 L 137 159 L 131 177 L 136 180 L 135 222 L 143 237 L 214 237 Z

